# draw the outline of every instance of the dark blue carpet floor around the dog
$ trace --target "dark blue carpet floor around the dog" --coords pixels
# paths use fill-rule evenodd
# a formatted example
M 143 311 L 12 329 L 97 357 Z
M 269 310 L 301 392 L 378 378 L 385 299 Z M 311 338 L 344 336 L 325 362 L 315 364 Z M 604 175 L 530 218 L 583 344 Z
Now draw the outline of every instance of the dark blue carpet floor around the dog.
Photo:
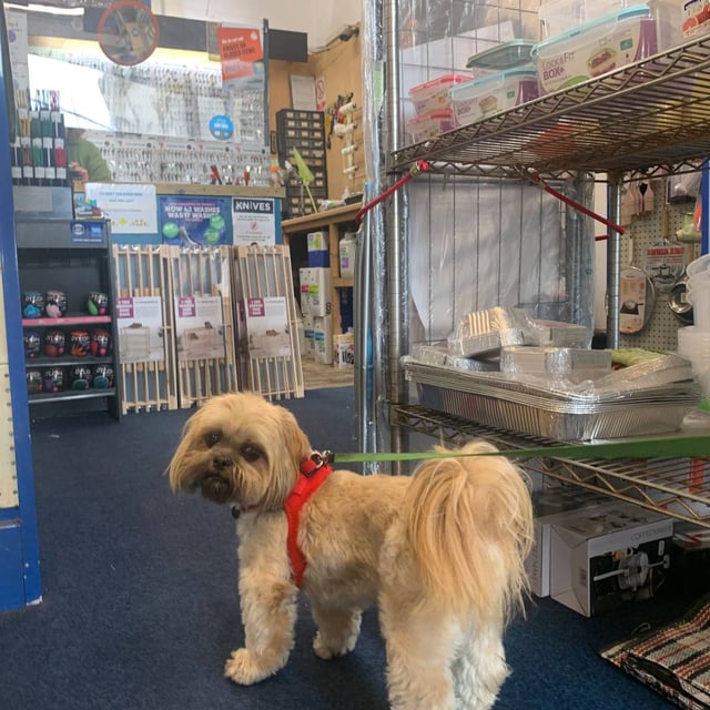
M 354 449 L 353 389 L 282 403 L 316 448 Z M 32 429 L 43 601 L 0 613 L 2 710 L 386 710 L 384 648 L 365 615 L 357 648 L 322 661 L 303 601 L 287 667 L 252 688 L 222 678 L 242 640 L 226 508 L 174 497 L 164 475 L 190 412 L 43 420 Z M 691 600 L 688 600 L 690 602 Z M 597 650 L 678 598 L 585 619 L 549 599 L 506 635 L 500 710 L 670 706 Z

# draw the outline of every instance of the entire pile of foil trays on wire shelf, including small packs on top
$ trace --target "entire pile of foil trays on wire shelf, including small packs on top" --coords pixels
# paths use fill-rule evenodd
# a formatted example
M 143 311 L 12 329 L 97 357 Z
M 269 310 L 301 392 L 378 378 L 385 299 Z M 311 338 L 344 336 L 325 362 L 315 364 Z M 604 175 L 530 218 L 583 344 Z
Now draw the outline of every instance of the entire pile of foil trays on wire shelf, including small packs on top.
M 700 403 L 684 358 L 612 371 L 589 342 L 582 326 L 494 307 L 466 315 L 446 343 L 413 347 L 403 368 L 430 409 L 562 442 L 673 432 Z

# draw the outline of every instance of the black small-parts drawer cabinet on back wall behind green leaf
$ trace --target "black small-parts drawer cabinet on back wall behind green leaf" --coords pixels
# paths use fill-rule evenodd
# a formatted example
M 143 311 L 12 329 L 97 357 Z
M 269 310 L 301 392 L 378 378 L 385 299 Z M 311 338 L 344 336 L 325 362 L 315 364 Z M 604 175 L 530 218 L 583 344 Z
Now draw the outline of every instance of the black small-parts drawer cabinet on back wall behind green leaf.
M 315 200 L 328 196 L 328 178 L 325 156 L 325 121 L 322 111 L 297 111 L 282 109 L 276 112 L 276 144 L 278 163 L 288 161 L 294 166 L 286 179 L 286 197 L 284 212 L 287 217 L 298 217 L 314 212 L 308 191 L 301 184 L 296 172 L 293 149 L 295 148 L 303 162 L 313 173 L 313 182 L 308 185 Z

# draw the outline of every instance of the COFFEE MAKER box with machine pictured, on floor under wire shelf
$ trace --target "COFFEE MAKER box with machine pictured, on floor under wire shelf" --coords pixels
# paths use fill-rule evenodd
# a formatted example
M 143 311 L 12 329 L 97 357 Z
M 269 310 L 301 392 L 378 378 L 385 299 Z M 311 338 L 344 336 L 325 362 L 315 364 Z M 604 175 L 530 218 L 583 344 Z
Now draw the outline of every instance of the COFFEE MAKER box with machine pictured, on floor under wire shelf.
M 673 520 L 616 501 L 550 528 L 550 597 L 587 617 L 655 595 L 670 567 Z

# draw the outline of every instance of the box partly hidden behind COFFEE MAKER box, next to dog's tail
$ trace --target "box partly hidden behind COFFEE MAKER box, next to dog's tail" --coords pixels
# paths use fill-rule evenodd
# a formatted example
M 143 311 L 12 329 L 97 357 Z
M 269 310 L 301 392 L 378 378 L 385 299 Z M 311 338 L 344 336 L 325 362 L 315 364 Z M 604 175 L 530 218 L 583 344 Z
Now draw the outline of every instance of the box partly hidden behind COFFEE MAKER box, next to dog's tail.
M 532 491 L 532 549 L 525 560 L 530 591 L 537 597 L 550 594 L 550 527 L 570 510 L 590 510 L 609 503 L 609 496 L 579 486 L 555 486 Z

